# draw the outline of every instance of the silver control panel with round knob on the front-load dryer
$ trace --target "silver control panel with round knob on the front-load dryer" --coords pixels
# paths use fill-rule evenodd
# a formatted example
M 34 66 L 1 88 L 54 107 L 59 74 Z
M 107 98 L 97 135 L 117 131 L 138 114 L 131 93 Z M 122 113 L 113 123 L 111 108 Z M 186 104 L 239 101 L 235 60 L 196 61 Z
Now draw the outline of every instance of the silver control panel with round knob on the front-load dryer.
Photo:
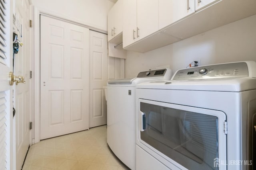
M 245 62 L 225 63 L 178 70 L 172 80 L 248 77 L 248 74 Z

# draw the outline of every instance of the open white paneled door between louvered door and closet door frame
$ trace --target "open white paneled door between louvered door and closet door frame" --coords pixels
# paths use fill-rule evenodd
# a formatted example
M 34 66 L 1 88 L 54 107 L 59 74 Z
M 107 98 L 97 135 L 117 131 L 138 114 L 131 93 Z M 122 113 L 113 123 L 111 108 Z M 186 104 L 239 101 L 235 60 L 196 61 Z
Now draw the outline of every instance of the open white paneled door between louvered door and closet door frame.
M 24 158 L 30 145 L 30 27 L 29 27 L 29 8 L 28 0 L 16 1 L 16 22 L 19 25 L 14 26 L 18 39 L 23 43 L 19 47 L 18 54 L 14 55 L 14 75 L 24 76 L 26 84 L 14 84 L 14 116 L 16 127 L 16 169 L 22 168 Z

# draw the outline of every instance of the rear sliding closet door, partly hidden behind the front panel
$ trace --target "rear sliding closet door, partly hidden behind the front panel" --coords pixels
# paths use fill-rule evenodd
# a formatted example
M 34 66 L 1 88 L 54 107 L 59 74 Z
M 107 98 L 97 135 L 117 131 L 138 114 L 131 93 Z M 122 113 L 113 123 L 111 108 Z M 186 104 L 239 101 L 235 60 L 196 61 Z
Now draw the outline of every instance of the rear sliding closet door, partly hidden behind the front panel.
M 90 31 L 90 123 L 89 127 L 107 124 L 105 93 L 107 84 L 107 35 Z

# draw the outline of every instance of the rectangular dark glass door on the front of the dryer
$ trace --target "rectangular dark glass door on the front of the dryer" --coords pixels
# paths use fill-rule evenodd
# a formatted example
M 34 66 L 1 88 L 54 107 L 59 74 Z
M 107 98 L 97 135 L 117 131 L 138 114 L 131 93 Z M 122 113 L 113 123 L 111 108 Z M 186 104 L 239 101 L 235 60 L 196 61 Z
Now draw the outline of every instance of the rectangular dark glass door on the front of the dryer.
M 189 170 L 218 170 L 226 160 L 223 112 L 149 100 L 139 106 L 144 145 Z

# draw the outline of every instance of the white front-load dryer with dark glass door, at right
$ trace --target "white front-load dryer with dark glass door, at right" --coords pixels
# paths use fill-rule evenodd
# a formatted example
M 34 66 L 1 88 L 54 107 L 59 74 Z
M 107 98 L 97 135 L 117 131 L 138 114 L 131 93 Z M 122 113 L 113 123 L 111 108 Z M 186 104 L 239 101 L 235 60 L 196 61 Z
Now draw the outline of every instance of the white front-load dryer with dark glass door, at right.
M 138 84 L 136 110 L 136 170 L 256 169 L 254 61 Z

